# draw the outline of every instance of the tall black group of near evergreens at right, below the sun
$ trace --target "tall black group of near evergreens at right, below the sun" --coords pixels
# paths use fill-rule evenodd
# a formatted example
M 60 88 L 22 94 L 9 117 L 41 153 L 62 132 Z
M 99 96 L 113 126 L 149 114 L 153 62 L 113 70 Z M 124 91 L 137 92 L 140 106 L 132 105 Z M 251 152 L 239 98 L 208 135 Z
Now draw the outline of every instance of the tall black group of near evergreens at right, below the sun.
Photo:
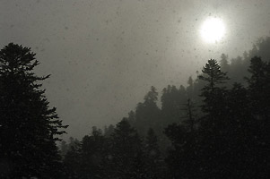
M 248 86 L 222 87 L 226 74 L 209 60 L 203 74 L 202 111 L 196 130 L 172 124 L 167 163 L 171 178 L 269 178 L 270 64 L 251 59 Z

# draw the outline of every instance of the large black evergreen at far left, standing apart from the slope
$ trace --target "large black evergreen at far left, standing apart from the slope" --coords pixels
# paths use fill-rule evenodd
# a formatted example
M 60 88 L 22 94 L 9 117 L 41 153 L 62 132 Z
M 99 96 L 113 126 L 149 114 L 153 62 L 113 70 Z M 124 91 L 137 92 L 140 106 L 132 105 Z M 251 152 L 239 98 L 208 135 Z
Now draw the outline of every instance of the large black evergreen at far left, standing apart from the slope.
M 10 43 L 0 51 L 0 178 L 61 178 L 56 108 L 48 106 L 30 48 Z

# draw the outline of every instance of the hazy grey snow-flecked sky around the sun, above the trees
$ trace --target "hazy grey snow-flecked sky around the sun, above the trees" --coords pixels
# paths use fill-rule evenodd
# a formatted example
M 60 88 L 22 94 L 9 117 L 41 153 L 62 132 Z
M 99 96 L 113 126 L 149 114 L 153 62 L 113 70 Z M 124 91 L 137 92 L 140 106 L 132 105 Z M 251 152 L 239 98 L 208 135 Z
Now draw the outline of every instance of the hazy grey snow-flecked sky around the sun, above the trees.
M 269 0 L 0 0 L 0 47 L 37 54 L 47 97 L 68 136 L 116 124 L 153 85 L 186 85 L 209 58 L 242 55 L 269 35 Z M 205 43 L 209 16 L 225 24 Z

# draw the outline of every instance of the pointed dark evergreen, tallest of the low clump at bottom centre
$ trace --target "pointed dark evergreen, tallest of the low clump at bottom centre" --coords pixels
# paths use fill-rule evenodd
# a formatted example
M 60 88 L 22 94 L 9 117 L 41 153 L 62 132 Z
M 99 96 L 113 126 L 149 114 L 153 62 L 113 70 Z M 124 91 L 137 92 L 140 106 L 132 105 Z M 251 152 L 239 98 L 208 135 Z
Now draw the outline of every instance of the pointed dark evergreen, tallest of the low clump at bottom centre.
M 107 177 L 118 179 L 144 178 L 142 141 L 126 118 L 117 124 L 110 140 Z

